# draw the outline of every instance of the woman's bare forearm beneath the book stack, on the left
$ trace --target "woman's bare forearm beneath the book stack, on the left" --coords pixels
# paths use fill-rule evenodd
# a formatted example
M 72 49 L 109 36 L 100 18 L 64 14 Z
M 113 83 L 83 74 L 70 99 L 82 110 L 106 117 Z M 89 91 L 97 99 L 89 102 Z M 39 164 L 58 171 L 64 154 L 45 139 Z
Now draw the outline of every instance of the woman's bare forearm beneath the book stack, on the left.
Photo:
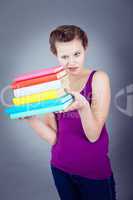
M 36 116 L 25 119 L 42 139 L 51 145 L 56 143 L 57 124 L 53 113 L 45 114 L 42 120 Z

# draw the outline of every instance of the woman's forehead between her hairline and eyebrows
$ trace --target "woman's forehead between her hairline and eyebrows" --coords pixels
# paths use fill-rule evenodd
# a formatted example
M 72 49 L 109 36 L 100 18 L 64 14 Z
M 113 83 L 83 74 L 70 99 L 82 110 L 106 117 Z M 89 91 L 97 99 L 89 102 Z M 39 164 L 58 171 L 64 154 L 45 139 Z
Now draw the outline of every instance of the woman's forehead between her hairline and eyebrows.
M 74 39 L 69 42 L 56 42 L 56 49 L 58 54 L 67 54 L 73 53 L 74 51 L 82 50 L 82 41 L 78 39 Z

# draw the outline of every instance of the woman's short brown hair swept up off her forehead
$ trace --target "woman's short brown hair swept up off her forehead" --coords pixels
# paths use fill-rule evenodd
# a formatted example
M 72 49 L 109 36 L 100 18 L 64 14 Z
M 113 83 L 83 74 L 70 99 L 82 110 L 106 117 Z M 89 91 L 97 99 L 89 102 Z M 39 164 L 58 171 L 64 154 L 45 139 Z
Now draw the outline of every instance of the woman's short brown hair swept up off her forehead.
M 73 39 L 80 39 L 82 41 L 82 45 L 84 49 L 88 46 L 88 37 L 85 31 L 83 31 L 80 27 L 75 25 L 62 25 L 58 26 L 50 33 L 49 43 L 50 50 L 54 55 L 57 55 L 57 50 L 55 46 L 55 42 L 68 42 Z

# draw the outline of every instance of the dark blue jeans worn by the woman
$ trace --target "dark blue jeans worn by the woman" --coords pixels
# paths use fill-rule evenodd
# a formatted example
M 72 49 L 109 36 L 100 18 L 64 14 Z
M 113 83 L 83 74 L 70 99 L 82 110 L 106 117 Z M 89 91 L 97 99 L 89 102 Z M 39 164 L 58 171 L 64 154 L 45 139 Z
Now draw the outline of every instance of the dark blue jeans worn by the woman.
M 51 171 L 61 200 L 116 200 L 113 175 L 94 180 L 66 173 L 53 165 Z

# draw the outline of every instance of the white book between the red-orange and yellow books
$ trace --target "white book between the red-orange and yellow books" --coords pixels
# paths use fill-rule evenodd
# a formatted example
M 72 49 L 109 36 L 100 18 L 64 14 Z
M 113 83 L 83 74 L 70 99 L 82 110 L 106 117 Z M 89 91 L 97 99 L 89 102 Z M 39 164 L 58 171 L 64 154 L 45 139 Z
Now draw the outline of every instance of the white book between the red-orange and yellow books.
M 47 90 L 60 89 L 60 88 L 69 88 L 68 75 L 65 75 L 63 78 L 59 80 L 14 89 L 13 93 L 15 97 L 19 98 L 31 94 L 44 92 Z

